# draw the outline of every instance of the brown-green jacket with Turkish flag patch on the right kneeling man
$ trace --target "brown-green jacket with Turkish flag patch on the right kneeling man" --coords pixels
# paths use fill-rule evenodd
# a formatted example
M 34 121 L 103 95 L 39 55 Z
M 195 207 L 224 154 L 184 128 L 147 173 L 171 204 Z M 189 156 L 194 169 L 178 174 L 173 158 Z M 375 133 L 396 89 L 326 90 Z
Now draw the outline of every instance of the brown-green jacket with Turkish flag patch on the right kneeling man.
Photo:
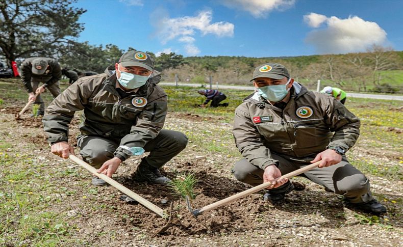
M 235 110 L 233 134 L 241 154 L 264 170 L 279 164 L 271 152 L 301 159 L 330 146 L 347 151 L 360 135 L 360 120 L 334 97 L 294 82 L 284 109 L 262 100 L 258 92 L 244 99 Z

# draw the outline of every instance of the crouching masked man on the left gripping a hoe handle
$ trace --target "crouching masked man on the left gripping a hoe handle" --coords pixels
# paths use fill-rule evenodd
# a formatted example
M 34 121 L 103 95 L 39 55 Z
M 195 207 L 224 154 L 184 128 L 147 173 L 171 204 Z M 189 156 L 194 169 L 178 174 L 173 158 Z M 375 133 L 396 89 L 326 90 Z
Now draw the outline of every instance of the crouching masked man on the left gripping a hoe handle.
M 168 182 L 159 169 L 186 147 L 187 138 L 181 132 L 162 129 L 167 95 L 157 85 L 160 79 L 154 59 L 137 50 L 125 52 L 103 74 L 78 79 L 47 107 L 43 117 L 52 152 L 63 158 L 74 153 L 68 144 L 68 124 L 75 111 L 84 110 L 77 142 L 85 161 L 112 177 L 125 159 L 150 152 L 133 179 Z M 92 183 L 106 184 L 98 178 Z

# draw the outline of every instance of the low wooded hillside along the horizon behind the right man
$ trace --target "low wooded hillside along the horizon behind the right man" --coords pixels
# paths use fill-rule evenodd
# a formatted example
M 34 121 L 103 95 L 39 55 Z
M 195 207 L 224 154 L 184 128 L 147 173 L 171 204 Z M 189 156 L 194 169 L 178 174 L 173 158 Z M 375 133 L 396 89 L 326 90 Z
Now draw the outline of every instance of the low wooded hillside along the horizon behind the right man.
M 179 58 L 180 57 L 180 58 Z M 174 59 L 174 63 L 169 62 Z M 173 61 L 173 60 L 172 60 Z M 162 54 L 156 59 L 164 80 L 248 85 L 256 66 L 267 62 L 281 63 L 292 77 L 314 87 L 318 79 L 326 86 L 350 91 L 403 93 L 403 51 L 374 46 L 362 53 L 327 54 L 299 57 L 186 57 Z

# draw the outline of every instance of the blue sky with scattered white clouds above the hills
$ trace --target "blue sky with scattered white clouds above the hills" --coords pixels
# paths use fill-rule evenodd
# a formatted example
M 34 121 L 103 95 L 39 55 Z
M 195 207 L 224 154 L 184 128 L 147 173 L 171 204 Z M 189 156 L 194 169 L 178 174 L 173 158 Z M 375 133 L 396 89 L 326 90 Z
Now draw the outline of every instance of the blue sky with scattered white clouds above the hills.
M 403 0 L 79 0 L 79 41 L 190 56 L 403 50 Z

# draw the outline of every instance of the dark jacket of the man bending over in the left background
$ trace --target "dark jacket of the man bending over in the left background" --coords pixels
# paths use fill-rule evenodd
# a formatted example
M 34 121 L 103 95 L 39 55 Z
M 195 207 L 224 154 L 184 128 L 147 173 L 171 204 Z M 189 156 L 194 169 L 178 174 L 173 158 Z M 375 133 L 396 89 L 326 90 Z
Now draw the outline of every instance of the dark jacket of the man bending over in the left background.
M 43 75 L 37 75 L 32 73 L 32 61 L 37 58 L 28 58 L 21 64 L 21 81 L 28 93 L 32 93 L 31 81 L 37 81 L 44 83 L 44 86 L 51 86 L 57 83 L 62 78 L 62 68 L 56 59 L 43 58 L 47 61 L 49 67 L 46 69 Z

